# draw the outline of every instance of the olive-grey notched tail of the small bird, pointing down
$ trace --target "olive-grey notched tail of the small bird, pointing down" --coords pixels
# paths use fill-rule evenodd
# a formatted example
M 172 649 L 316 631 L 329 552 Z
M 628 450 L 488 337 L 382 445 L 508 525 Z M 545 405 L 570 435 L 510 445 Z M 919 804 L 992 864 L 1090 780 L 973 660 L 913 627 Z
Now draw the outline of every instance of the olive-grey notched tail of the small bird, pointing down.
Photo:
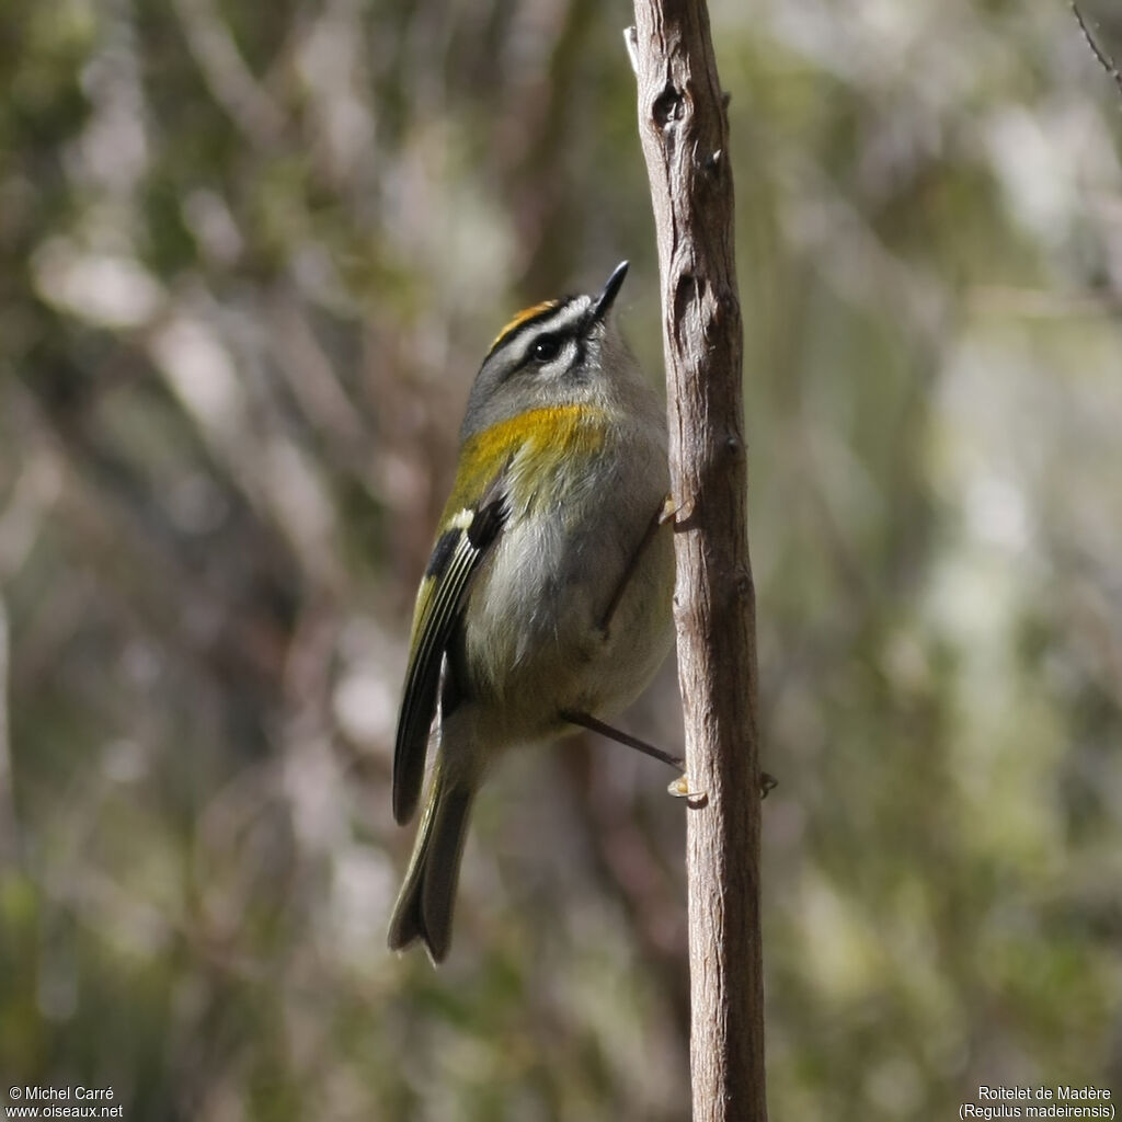
M 389 921 L 390 950 L 403 950 L 421 939 L 434 963 L 447 957 L 452 942 L 460 858 L 473 799 L 472 788 L 449 782 L 438 765 L 405 883 Z

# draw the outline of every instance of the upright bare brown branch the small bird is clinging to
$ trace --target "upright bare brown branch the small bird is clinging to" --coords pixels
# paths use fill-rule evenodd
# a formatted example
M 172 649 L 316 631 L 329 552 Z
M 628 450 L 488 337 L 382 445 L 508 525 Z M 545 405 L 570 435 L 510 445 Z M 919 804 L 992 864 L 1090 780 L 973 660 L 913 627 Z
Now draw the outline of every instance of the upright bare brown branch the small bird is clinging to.
M 635 0 L 629 39 L 659 242 L 674 619 L 690 790 L 695 1122 L 764 1122 L 755 595 L 726 100 L 705 0 Z

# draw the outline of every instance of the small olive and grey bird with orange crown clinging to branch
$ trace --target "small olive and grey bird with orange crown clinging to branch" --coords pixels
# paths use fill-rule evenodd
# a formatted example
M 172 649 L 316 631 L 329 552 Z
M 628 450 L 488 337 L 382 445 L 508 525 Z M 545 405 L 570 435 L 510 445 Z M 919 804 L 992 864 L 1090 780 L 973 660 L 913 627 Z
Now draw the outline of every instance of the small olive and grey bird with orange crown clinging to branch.
M 519 312 L 491 344 L 460 430 L 413 615 L 393 809 L 414 815 L 435 765 L 389 947 L 448 955 L 476 791 L 508 747 L 603 724 L 670 649 L 673 543 L 665 414 L 597 295 Z M 624 734 L 617 738 L 660 755 Z M 669 757 L 663 757 L 669 758 Z

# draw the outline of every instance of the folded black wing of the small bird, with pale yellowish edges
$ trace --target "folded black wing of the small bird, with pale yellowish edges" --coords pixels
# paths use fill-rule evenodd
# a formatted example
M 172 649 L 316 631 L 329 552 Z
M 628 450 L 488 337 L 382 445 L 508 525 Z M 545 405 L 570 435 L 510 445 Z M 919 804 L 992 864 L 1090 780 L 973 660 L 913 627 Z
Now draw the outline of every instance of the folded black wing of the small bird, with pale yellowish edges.
M 413 643 L 394 745 L 394 819 L 407 822 L 416 810 L 424 779 L 429 730 L 444 652 L 463 615 L 471 578 L 487 557 L 506 519 L 502 478 L 475 509 L 461 512 L 438 539 L 413 615 Z

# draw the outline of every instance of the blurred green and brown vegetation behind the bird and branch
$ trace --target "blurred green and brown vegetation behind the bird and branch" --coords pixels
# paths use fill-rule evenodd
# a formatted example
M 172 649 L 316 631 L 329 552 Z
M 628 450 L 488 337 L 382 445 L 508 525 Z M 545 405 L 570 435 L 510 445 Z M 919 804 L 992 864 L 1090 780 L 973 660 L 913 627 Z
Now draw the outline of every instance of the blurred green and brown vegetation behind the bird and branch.
M 1109 0 L 1085 4 L 1122 56 Z M 775 1119 L 1122 1093 L 1122 98 L 1066 4 L 716 0 Z M 1096 24 L 1097 20 L 1097 24 Z M 680 1119 L 680 802 L 484 794 L 384 949 L 479 359 L 629 257 L 622 2 L 6 0 L 0 1075 L 135 1120 Z M 628 718 L 677 743 L 673 668 Z

